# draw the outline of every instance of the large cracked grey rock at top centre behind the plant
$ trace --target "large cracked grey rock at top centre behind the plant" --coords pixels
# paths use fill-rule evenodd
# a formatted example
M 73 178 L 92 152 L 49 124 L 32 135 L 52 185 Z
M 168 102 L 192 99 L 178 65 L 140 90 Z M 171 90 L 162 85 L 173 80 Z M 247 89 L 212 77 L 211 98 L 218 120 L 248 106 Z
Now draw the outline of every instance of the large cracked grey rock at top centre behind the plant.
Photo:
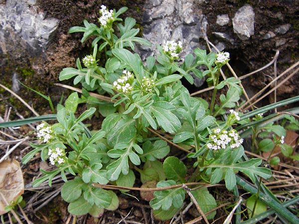
M 199 38 L 206 34 L 207 19 L 199 8 L 194 8 L 194 0 L 147 0 L 144 16 L 144 37 L 152 47 L 139 46 L 137 51 L 141 58 L 157 54 L 156 45 L 167 40 L 182 41 L 184 57 L 199 46 Z

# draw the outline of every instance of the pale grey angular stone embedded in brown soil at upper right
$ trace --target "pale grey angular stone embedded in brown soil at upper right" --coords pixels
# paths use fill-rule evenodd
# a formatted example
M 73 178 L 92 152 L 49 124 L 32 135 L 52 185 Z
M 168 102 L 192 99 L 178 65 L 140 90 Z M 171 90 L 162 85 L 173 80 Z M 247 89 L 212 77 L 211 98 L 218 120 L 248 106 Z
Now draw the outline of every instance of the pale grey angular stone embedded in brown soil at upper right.
M 241 40 L 248 40 L 254 35 L 255 13 L 250 4 L 245 4 L 239 8 L 233 18 L 234 32 Z

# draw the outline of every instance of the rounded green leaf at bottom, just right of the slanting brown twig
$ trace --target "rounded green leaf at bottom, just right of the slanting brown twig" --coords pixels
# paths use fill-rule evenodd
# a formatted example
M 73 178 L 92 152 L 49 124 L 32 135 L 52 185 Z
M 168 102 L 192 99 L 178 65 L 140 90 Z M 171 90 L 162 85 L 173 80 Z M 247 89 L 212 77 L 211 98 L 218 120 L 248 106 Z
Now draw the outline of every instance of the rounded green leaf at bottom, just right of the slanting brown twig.
M 203 213 L 207 213 L 217 207 L 215 198 L 209 193 L 207 188 L 200 188 L 194 191 L 191 191 L 191 194 L 194 196 L 197 204 L 201 208 Z M 207 219 L 214 219 L 216 211 L 207 215 Z

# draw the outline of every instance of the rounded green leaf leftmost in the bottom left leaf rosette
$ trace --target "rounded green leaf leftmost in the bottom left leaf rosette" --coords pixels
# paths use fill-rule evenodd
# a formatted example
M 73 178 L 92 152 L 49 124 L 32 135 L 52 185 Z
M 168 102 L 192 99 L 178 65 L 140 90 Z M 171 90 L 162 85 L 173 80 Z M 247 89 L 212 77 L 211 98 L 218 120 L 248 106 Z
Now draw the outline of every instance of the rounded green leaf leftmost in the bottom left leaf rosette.
M 68 203 L 76 201 L 81 196 L 84 185 L 86 184 L 80 178 L 64 183 L 61 188 L 62 199 Z

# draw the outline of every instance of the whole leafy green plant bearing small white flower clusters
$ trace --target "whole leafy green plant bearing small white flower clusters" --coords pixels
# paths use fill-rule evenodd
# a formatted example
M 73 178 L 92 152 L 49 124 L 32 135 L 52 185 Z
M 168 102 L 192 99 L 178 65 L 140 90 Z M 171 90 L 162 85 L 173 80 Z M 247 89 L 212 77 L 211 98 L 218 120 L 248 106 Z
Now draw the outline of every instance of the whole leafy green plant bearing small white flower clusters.
M 229 61 L 227 52 L 207 54 L 196 48 L 194 55 L 188 54 L 180 64 L 177 59 L 182 44 L 169 41 L 163 47 L 157 46 L 160 54 L 149 56 L 144 65 L 140 56 L 127 48 L 134 50 L 136 42 L 148 46 L 150 43 L 136 37 L 139 29 L 133 28 L 133 18 L 126 18 L 122 23 L 119 16 L 126 10 L 125 7 L 118 11 L 108 10 L 102 5 L 100 27 L 84 20 L 85 27 L 70 28 L 70 33 L 83 32 L 82 42 L 94 37 L 93 54 L 82 60 L 78 58 L 76 69 L 65 68 L 59 76 L 61 81 L 74 78 L 74 85 L 81 83 L 82 96 L 73 93 L 64 105 L 57 105 L 56 114 L 37 118 L 57 119 L 58 122 L 53 125 L 42 122 L 37 126 L 42 144 L 31 143 L 34 149 L 22 162 L 26 164 L 40 152 L 41 159 L 49 160 L 56 168 L 49 172 L 41 170 L 44 176 L 34 180 L 33 186 L 44 181 L 51 185 L 53 177 L 60 175 L 65 182 L 61 195 L 69 203 L 68 211 L 73 215 L 90 213 L 96 216 L 104 209 L 117 209 L 118 197 L 109 190 L 114 189 L 112 186 L 128 191 L 134 189 L 136 182 L 145 184 L 154 180 L 157 184 L 149 205 L 161 220 L 170 219 L 182 207 L 189 190 L 201 212 L 214 209 L 216 201 L 208 191 L 206 185 L 209 184 L 224 181 L 229 191 L 234 191 L 238 184 L 256 194 L 236 174 L 245 174 L 258 186 L 258 177 L 270 178 L 271 170 L 261 166 L 262 159 L 246 157 L 240 133 L 246 137 L 250 129 L 256 136 L 267 128 L 278 136 L 285 136 L 285 132 L 279 126 L 273 128 L 272 124 L 247 129 L 258 121 L 251 121 L 250 117 L 267 109 L 247 114 L 233 110 L 237 108 L 242 89 L 235 78 L 220 81 L 221 67 Z M 104 67 L 98 66 L 99 51 L 105 52 Z M 206 70 L 202 71 L 201 67 Z M 208 76 L 207 82 L 214 86 L 210 104 L 191 97 L 182 85 L 180 79 L 183 78 L 193 84 L 191 74 L 199 78 Z M 216 99 L 217 91 L 224 87 L 226 94 Z M 106 98 L 102 96 L 99 100 L 90 94 L 91 91 L 105 94 Z M 87 110 L 76 117 L 79 104 L 86 104 Z M 98 112 L 105 117 L 101 129 L 89 130 L 86 122 L 90 118 L 98 122 L 94 117 Z M 32 121 L 33 118 L 22 122 Z M 158 134 L 155 131 L 158 129 L 163 134 L 171 134 L 172 140 Z M 182 155 L 188 156 L 191 163 L 188 169 L 194 169 L 192 175 L 187 175 L 189 164 L 173 156 L 169 142 L 181 149 Z M 267 139 L 259 145 L 261 151 L 273 148 Z M 140 174 L 139 181 L 136 173 Z M 71 175 L 74 178 L 70 178 Z M 280 207 L 265 186 L 261 189 L 261 195 L 270 198 L 269 203 L 263 198 L 265 204 L 271 208 L 273 205 Z M 206 219 L 214 216 L 215 212 Z M 286 212 L 286 217 L 292 222 L 298 220 L 291 212 Z

